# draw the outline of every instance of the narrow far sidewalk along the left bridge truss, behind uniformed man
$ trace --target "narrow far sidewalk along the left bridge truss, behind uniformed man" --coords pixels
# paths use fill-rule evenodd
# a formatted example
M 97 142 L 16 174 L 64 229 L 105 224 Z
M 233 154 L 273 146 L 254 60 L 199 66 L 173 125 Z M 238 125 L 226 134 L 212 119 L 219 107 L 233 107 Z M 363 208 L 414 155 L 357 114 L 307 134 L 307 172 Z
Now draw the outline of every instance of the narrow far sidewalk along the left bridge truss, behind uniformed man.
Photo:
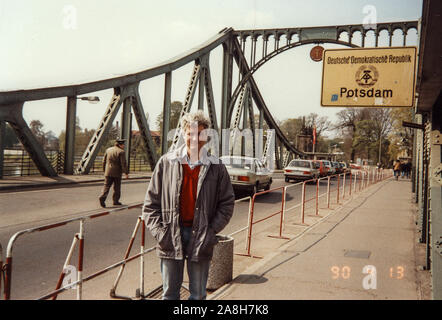
M 129 180 L 150 178 L 151 172 L 129 173 Z M 123 179 L 124 180 L 124 179 Z M 103 173 L 86 175 L 64 175 L 57 177 L 43 177 L 40 175 L 23 177 L 3 177 L 0 179 L 0 192 L 22 190 L 27 188 L 46 188 L 54 186 L 72 185 L 78 183 L 92 183 L 104 181 Z

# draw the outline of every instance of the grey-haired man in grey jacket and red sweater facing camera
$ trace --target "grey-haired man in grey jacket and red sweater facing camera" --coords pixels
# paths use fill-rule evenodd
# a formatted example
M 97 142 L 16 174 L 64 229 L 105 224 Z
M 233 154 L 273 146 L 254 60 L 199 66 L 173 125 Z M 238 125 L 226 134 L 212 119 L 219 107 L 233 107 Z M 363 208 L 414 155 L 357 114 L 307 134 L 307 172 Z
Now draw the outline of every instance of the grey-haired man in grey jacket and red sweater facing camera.
M 163 155 L 152 174 L 143 218 L 157 241 L 163 300 L 179 300 L 187 262 L 191 300 L 206 299 L 216 234 L 229 223 L 235 196 L 226 167 L 204 146 L 202 111 L 182 119 L 185 144 Z

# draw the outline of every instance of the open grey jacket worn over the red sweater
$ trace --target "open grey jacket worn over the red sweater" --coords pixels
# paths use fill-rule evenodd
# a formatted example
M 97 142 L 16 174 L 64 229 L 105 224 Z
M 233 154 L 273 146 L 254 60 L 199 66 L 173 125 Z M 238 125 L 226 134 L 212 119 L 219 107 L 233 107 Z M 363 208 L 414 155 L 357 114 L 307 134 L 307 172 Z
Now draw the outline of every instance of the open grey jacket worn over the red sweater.
M 157 241 L 160 258 L 186 258 L 179 219 L 183 148 L 186 146 L 168 152 L 158 160 L 144 200 L 143 218 Z M 226 167 L 207 152 L 201 161 L 192 237 L 186 248 L 187 258 L 191 261 L 212 258 L 216 234 L 229 223 L 235 203 Z

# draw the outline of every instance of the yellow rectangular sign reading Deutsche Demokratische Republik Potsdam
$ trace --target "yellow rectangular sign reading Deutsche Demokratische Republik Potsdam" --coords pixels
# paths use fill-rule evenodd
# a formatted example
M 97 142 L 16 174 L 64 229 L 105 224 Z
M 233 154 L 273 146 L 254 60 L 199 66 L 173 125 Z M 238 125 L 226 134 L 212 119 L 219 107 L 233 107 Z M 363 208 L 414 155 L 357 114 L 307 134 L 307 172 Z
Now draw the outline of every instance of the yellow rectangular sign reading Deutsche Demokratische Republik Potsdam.
M 416 47 L 324 51 L 321 106 L 412 107 Z

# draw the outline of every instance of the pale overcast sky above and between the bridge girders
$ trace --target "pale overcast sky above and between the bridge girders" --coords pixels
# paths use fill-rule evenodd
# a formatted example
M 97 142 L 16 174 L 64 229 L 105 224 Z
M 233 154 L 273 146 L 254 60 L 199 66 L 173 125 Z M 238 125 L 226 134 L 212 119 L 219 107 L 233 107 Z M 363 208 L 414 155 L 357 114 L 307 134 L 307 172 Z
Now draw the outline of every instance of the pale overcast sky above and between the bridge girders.
M 0 91 L 78 84 L 142 71 L 205 42 L 224 27 L 361 24 L 367 5 L 376 9 L 377 22 L 421 17 L 422 0 L 0 0 Z M 407 45 L 416 41 L 414 32 Z M 395 44 L 402 45 L 402 39 L 395 38 Z M 320 106 L 322 64 L 310 59 L 311 48 L 286 51 L 255 74 L 278 120 L 311 112 L 334 120 L 340 110 Z M 217 112 L 221 53 L 221 48 L 211 53 L 210 62 Z M 173 101 L 183 101 L 192 67 L 173 73 Z M 140 85 L 152 130 L 162 110 L 163 85 L 162 76 Z M 100 97 L 99 104 L 78 102 L 82 128 L 97 128 L 112 90 L 94 95 Z M 24 116 L 28 122 L 41 120 L 46 131 L 58 135 L 65 127 L 65 105 L 65 98 L 29 102 Z

